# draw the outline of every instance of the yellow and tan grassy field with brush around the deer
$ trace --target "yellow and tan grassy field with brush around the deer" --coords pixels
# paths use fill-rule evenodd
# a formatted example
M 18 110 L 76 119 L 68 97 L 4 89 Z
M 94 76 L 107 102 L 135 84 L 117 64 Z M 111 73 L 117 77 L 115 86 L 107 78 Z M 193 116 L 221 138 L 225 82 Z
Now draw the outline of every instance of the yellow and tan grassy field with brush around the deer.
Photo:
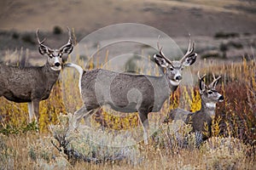
M 138 127 L 137 115 L 116 116 L 108 110 L 98 112 L 92 121 L 107 130 L 85 127 L 83 133 L 67 133 L 68 113 L 82 103 L 79 88 L 69 88 L 77 87 L 78 75 L 64 70 L 61 77 L 65 78 L 55 84 L 49 99 L 40 103 L 39 127 L 27 124 L 26 104 L 0 98 L 1 169 L 255 169 L 255 60 L 230 64 L 204 60 L 196 65 L 192 74 L 207 73 L 207 81 L 212 80 L 212 72 L 222 76 L 218 92 L 224 95 L 212 122 L 212 138 L 199 147 L 195 134 L 189 134 L 190 125 L 183 122 L 160 124 L 148 145 L 134 144 L 133 139 L 124 139 L 117 132 Z M 178 106 L 188 111 L 201 108 L 197 85 L 182 85 L 170 98 L 159 113 L 149 114 L 150 123 L 159 123 L 167 111 Z M 173 126 L 179 127 L 177 131 Z M 91 142 L 87 136 L 102 143 Z M 183 144 L 185 139 L 188 144 Z M 132 145 L 115 148 L 107 143 L 122 144 L 124 140 Z M 74 156 L 72 150 L 80 155 Z

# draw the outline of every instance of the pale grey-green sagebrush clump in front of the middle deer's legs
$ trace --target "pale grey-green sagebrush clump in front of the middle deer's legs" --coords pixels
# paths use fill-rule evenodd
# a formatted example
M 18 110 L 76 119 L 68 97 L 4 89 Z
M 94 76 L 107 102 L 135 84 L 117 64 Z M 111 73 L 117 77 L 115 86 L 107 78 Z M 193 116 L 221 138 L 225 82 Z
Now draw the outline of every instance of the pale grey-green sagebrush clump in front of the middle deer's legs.
M 70 130 L 72 116 L 60 116 L 60 124 L 50 126 L 55 147 L 63 150 L 68 161 L 106 162 L 128 161 L 136 164 L 139 151 L 136 141 L 125 138 L 123 134 L 115 134 L 100 129 L 79 126 L 76 132 Z M 125 141 L 125 143 L 124 143 Z M 125 144 L 125 145 L 124 145 Z

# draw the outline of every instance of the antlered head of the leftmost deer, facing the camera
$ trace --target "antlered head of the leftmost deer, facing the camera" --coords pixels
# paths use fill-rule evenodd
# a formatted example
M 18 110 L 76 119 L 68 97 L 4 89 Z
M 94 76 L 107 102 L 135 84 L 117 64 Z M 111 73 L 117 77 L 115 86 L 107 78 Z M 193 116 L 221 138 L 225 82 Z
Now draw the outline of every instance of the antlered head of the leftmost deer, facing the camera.
M 69 29 L 68 29 L 68 35 L 69 35 L 69 39 L 67 44 L 63 45 L 59 49 L 51 49 L 43 44 L 45 39 L 42 42 L 40 42 L 38 38 L 38 31 L 37 31 L 37 39 L 39 43 L 38 51 L 42 55 L 47 55 L 48 57 L 47 62 L 53 71 L 61 71 L 62 62 L 64 61 L 62 59 L 62 55 L 70 54 L 73 51 L 73 44 L 71 42 L 71 32 Z

